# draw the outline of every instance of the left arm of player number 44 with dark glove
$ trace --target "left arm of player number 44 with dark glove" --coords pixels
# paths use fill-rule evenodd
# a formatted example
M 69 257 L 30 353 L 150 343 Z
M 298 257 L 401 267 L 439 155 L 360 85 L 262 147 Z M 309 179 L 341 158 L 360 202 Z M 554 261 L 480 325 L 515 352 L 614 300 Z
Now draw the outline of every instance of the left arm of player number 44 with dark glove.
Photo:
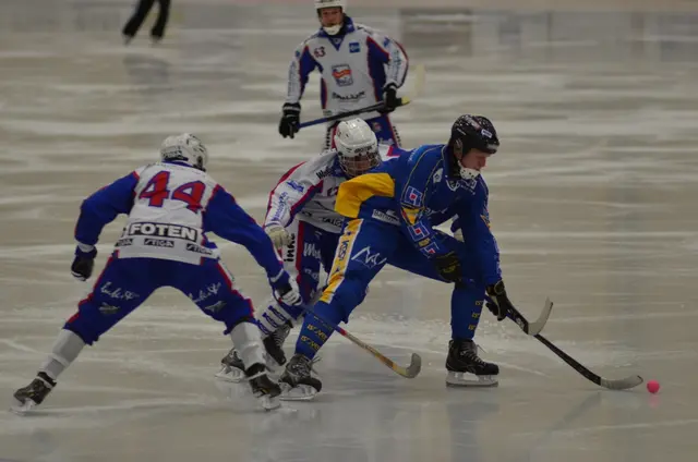
M 71 265 L 73 276 L 82 281 L 89 279 L 95 265 L 101 230 L 119 216 L 129 214 L 133 207 L 133 192 L 139 184 L 139 173 L 131 172 L 97 191 L 80 207 L 75 224 L 75 258 Z

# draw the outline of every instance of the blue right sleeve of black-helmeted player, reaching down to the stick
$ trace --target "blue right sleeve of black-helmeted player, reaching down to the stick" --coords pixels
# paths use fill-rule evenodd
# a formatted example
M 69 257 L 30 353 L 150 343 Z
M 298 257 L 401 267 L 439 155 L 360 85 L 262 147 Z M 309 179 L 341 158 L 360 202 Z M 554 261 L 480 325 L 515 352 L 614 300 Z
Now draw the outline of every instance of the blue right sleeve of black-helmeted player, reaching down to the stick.
M 476 255 L 485 284 L 491 285 L 502 279 L 500 248 L 490 229 L 488 186 L 482 178 L 478 179 L 478 183 L 469 207 L 459 210 L 457 224 L 454 226 L 460 228 L 464 242 Z

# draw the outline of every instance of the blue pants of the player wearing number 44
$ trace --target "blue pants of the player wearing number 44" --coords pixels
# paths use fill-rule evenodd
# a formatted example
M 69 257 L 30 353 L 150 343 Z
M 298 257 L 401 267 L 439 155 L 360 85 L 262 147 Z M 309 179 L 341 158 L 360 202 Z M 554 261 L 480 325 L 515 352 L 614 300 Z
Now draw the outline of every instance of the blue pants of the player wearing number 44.
M 201 265 L 191 265 L 112 256 L 64 329 L 92 344 L 163 287 L 179 289 L 202 312 L 225 323 L 226 335 L 243 320 L 253 321 L 252 302 L 234 289 L 233 278 L 222 263 L 213 258 L 202 260 Z

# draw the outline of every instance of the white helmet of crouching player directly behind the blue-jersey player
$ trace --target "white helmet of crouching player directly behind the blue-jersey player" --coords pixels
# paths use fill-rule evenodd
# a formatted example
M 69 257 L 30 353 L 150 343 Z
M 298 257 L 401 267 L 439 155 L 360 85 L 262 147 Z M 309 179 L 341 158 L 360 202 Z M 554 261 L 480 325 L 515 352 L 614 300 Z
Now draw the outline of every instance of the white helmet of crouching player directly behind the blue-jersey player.
M 360 175 L 381 163 L 375 133 L 361 119 L 339 122 L 335 145 L 339 151 L 339 166 L 348 177 Z

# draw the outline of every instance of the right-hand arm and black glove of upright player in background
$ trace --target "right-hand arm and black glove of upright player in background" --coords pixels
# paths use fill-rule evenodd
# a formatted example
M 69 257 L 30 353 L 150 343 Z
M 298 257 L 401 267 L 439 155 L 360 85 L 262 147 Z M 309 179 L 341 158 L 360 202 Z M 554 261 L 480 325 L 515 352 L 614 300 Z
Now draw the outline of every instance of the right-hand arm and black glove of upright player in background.
M 372 33 L 368 39 L 369 62 L 378 61 L 385 65 L 383 100 L 388 111 L 398 105 L 397 89 L 405 84 L 409 69 L 409 58 L 402 46 L 390 37 Z

